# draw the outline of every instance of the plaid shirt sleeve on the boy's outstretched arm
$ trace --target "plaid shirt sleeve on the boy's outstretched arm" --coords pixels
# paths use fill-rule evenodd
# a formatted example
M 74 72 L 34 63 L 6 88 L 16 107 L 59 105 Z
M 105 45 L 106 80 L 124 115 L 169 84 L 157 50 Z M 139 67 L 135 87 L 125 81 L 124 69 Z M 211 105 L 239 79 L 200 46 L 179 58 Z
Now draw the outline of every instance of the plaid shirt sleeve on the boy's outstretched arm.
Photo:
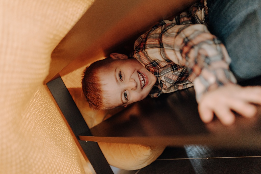
M 194 81 L 197 101 L 207 91 L 227 83 L 236 83 L 229 70 L 230 57 L 226 48 L 205 25 L 168 23 L 151 32 L 146 42 L 153 43 L 153 40 L 160 40 L 163 50 L 161 49 L 160 54 L 155 53 L 153 46 L 146 45 L 147 56 L 171 60 L 177 65 L 187 67 L 189 78 Z

